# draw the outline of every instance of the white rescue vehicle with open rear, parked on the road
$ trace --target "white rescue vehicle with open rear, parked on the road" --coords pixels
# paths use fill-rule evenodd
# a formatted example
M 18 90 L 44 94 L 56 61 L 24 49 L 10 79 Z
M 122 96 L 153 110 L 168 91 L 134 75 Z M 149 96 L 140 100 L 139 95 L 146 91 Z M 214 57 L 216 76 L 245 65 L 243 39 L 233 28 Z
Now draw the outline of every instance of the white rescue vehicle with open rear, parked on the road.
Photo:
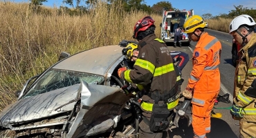
M 182 30 L 181 42 L 190 42 L 188 34 L 183 32 L 183 24 L 194 15 L 194 10 L 163 10 L 163 21 L 161 26 L 161 39 L 167 42 L 174 42 L 174 30 L 179 26 Z

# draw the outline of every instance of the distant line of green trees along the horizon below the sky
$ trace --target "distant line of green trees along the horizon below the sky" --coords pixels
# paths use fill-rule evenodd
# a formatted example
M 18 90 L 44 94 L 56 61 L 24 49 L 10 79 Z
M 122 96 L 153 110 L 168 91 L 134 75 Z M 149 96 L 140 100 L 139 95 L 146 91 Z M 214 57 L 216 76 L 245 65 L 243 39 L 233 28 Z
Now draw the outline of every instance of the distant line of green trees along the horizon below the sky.
M 95 3 L 98 3 L 102 0 L 63 0 L 62 3 L 66 4 L 66 6 L 60 6 L 60 9 L 68 11 L 70 14 L 80 14 L 84 12 L 88 12 Z M 47 0 L 30 0 L 30 5 L 33 8 L 39 9 L 43 3 L 46 3 Z M 132 10 L 141 10 L 143 12 L 147 12 L 149 14 L 162 14 L 163 9 L 165 10 L 174 10 L 175 8 L 172 6 L 172 3 L 169 1 L 160 1 L 155 3 L 153 6 L 148 6 L 144 0 L 107 0 L 109 5 L 122 3 L 122 8 L 127 12 L 131 12 Z M 234 10 L 230 10 L 228 14 L 219 14 L 217 16 L 212 16 L 210 13 L 202 14 L 203 19 L 218 19 L 218 18 L 234 18 L 241 14 L 249 14 L 251 17 L 256 18 L 256 9 L 247 8 L 244 6 L 234 6 Z M 72 10 L 71 10 L 72 9 Z

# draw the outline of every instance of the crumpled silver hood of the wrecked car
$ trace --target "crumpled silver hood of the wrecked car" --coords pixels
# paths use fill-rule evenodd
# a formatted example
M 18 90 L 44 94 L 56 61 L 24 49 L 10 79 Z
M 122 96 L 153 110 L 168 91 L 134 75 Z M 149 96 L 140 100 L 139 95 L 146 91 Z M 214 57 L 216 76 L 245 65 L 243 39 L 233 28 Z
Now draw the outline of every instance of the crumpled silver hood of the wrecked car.
M 0 126 L 9 128 L 12 124 L 43 119 L 73 110 L 75 102 L 68 103 L 68 101 L 75 99 L 79 87 L 80 84 L 76 84 L 26 99 L 20 99 L 1 112 Z M 55 110 L 66 103 L 68 103 L 66 106 Z

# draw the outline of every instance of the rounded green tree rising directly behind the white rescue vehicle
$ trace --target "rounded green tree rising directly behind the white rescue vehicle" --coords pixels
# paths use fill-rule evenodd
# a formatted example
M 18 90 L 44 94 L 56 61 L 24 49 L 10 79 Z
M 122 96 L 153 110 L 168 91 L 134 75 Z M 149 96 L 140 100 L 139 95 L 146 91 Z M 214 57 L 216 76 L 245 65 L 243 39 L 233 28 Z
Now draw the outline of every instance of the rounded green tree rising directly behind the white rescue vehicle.
M 160 1 L 152 6 L 152 12 L 155 12 L 156 14 L 163 14 L 163 9 L 174 10 L 172 3 L 169 1 Z

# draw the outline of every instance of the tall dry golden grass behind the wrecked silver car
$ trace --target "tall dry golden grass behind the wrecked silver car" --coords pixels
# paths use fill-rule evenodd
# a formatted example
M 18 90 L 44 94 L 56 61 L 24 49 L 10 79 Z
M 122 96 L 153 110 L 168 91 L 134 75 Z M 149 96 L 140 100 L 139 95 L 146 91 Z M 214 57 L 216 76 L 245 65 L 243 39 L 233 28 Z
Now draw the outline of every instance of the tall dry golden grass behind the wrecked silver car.
M 104 2 L 88 14 L 70 16 L 57 8 L 35 13 L 28 3 L 0 2 L 0 111 L 16 100 L 27 79 L 53 65 L 62 51 L 80 52 L 132 39 L 133 27 L 145 12 L 125 12 L 121 3 Z M 156 20 L 160 35 L 161 16 Z

